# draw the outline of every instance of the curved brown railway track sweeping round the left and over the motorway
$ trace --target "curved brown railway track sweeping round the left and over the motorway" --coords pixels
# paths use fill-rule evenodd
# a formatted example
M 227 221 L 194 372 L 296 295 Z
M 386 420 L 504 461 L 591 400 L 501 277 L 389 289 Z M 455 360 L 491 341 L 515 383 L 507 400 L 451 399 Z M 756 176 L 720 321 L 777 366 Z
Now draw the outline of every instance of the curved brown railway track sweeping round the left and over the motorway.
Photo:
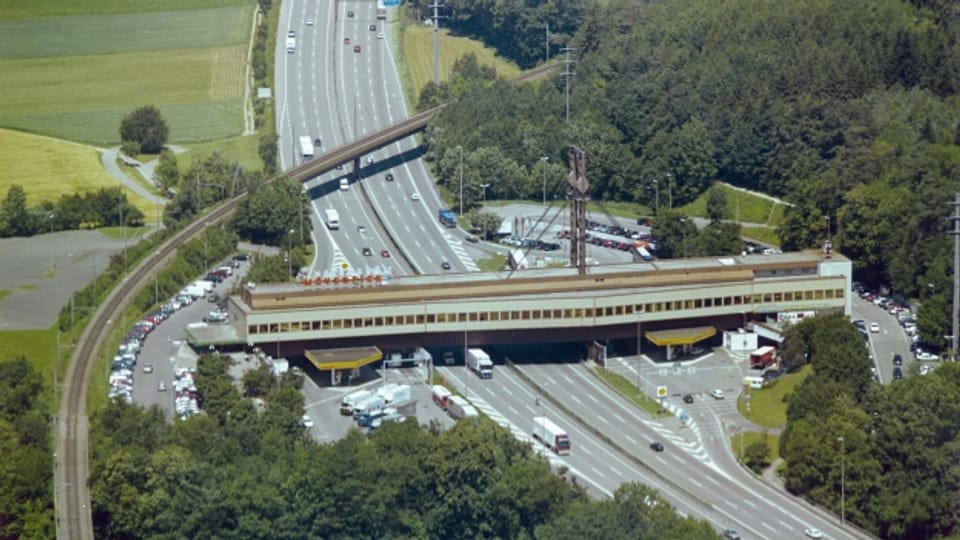
M 541 66 L 512 79 L 512 82 L 542 78 L 555 67 L 549 64 Z M 267 183 L 284 176 L 303 182 L 341 163 L 359 159 L 363 154 L 424 129 L 430 118 L 443 107 L 440 105 L 428 109 L 326 152 L 310 162 L 270 177 Z M 178 247 L 199 236 L 206 227 L 221 224 L 237 209 L 246 196 L 241 194 L 222 202 L 208 214 L 201 216 L 170 237 L 153 254 L 141 261 L 113 289 L 80 336 L 70 358 L 70 365 L 63 382 L 63 400 L 58 416 L 55 418 L 54 501 L 57 538 L 93 540 L 94 537 L 90 489 L 87 485 L 87 479 L 90 476 L 87 390 L 93 377 L 97 356 L 113 330 L 113 323 L 120 318 L 133 295 L 152 280 L 149 270 L 160 268 Z

